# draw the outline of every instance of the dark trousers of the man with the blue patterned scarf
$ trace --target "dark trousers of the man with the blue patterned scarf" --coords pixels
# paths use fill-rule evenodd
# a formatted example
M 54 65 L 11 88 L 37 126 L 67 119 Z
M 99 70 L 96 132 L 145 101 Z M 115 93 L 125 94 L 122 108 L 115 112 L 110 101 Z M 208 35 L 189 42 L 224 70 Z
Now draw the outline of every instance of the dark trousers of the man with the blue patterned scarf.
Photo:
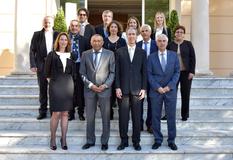
M 76 79 L 74 80 L 74 99 L 73 99 L 73 110 L 69 113 L 75 113 L 75 107 L 78 106 L 78 114 L 83 115 L 84 113 L 84 83 L 79 73 L 80 63 L 76 63 Z

